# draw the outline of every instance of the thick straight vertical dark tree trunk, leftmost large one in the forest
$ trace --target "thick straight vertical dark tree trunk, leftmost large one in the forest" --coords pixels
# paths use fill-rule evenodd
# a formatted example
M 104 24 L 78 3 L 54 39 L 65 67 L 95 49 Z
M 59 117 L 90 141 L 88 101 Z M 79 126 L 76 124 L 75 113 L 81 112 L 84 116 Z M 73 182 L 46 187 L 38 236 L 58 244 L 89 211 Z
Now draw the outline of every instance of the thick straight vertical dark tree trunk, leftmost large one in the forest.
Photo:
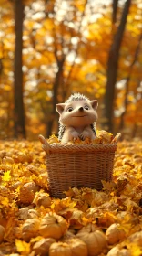
M 22 72 L 22 49 L 23 49 L 23 20 L 24 5 L 22 0 L 15 0 L 15 84 L 14 84 L 14 120 L 15 138 L 25 138 L 25 109 L 23 101 L 23 72 Z

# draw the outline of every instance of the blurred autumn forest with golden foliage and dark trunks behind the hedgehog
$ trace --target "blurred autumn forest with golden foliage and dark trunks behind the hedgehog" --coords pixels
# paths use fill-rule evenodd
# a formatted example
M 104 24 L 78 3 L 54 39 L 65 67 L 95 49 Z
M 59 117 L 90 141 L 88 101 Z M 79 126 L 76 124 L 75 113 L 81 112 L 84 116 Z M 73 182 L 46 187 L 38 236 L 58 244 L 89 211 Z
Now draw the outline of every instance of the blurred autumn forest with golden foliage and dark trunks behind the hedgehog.
M 58 131 L 56 103 L 97 99 L 97 128 L 142 131 L 141 0 L 0 0 L 0 139 Z

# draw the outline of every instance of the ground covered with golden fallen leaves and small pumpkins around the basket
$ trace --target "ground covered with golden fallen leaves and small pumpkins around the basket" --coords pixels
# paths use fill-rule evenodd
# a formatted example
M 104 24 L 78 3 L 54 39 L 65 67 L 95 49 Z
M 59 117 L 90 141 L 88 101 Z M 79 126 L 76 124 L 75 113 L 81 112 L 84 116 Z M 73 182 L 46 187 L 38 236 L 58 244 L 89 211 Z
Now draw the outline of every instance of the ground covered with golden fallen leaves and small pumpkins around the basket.
M 0 255 L 142 255 L 141 163 L 139 141 L 119 143 L 102 191 L 70 188 L 55 199 L 41 144 L 1 141 Z

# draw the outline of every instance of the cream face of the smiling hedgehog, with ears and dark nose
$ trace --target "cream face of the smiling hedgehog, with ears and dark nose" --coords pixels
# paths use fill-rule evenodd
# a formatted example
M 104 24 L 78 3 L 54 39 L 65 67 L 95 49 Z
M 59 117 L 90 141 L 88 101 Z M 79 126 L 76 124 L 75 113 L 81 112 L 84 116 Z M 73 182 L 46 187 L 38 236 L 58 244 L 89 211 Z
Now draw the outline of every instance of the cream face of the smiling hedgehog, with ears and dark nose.
M 60 122 L 65 126 L 86 126 L 96 122 L 97 101 L 71 101 L 57 104 L 56 111 L 60 114 Z

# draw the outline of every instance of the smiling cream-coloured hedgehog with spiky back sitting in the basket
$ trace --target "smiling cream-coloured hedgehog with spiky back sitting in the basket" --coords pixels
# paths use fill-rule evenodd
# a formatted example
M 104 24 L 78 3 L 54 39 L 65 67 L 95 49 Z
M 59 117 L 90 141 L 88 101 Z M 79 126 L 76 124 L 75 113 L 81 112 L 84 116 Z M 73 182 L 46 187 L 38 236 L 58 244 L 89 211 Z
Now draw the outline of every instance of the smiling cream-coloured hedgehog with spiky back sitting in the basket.
M 97 100 L 90 101 L 80 93 L 72 94 L 65 103 L 56 104 L 59 113 L 58 139 L 62 144 L 78 138 L 96 138 Z

